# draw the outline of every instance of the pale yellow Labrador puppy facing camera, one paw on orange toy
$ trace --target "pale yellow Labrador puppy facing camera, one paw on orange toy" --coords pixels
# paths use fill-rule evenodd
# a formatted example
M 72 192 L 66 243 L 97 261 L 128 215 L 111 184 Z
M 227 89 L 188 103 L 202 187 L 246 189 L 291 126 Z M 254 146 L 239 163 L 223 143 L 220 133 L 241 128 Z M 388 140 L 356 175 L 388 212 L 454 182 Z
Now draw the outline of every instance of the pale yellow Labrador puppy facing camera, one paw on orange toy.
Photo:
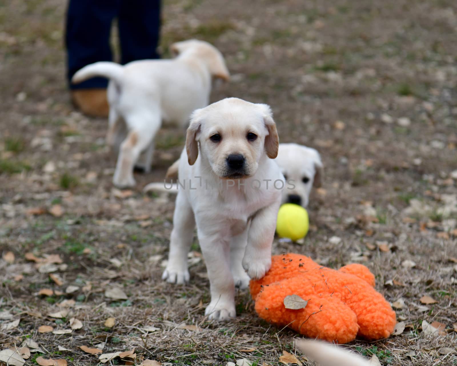
M 178 189 L 162 278 L 189 280 L 187 253 L 197 226 L 211 286 L 210 319 L 234 318 L 235 285 L 247 287 L 270 269 L 284 186 L 273 160 L 278 142 L 266 104 L 227 98 L 192 113 L 178 169 L 185 188 Z

